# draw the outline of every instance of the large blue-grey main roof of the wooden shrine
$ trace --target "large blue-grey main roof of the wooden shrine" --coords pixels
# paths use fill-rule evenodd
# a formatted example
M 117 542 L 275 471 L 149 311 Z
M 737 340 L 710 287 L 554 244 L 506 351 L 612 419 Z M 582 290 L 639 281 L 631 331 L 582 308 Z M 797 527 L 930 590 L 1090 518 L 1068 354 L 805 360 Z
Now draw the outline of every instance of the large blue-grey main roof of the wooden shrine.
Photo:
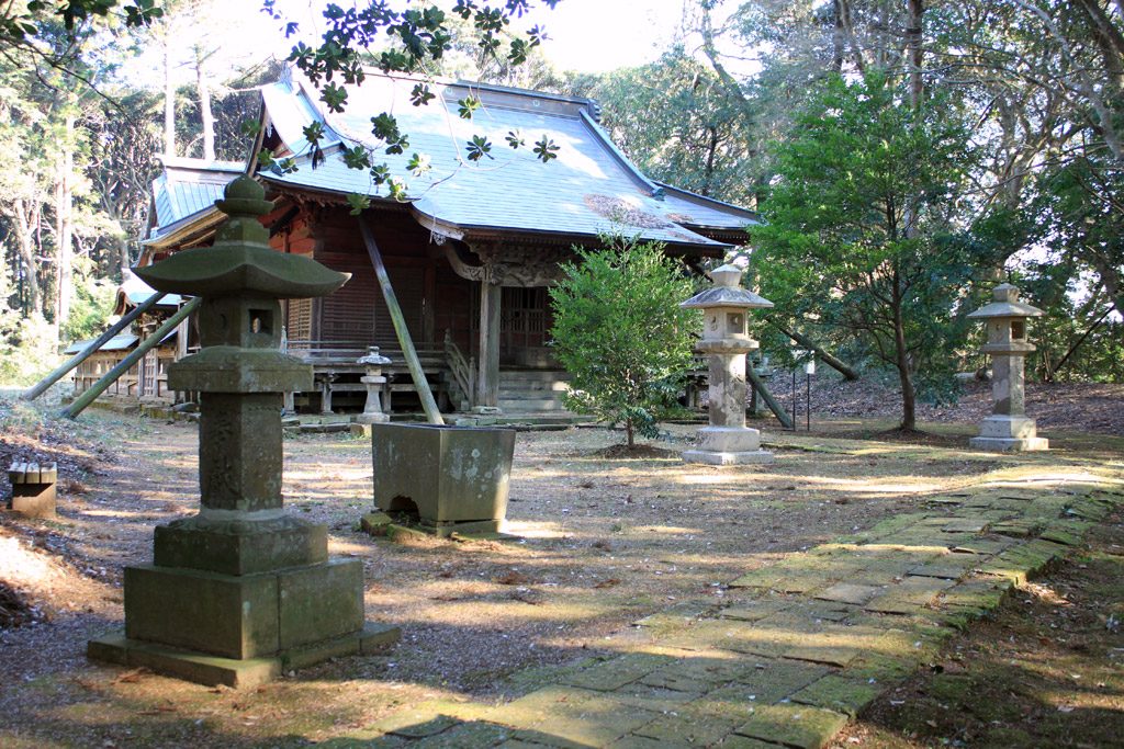
M 338 193 L 379 195 L 363 171 L 347 168 L 337 144 L 377 148 L 371 118 L 389 111 L 409 137 L 406 153 L 386 156 L 391 174 L 409 185 L 415 212 L 433 228 L 518 230 L 560 235 L 619 232 L 673 244 L 725 246 L 690 227 L 737 229 L 753 222 L 750 211 L 649 181 L 605 136 L 590 117 L 590 102 L 529 91 L 472 83 L 430 83 L 437 98 L 426 107 L 410 104 L 416 80 L 371 74 L 348 89 L 344 113 L 318 106 L 318 94 L 299 80 L 263 91 L 270 125 L 294 155 L 298 171 L 262 173 L 271 182 Z M 457 100 L 478 97 L 483 106 L 471 120 L 457 116 Z M 326 158 L 315 170 L 302 128 L 319 120 L 328 131 Z M 523 148 L 507 146 L 518 133 Z M 492 158 L 470 162 L 464 146 L 473 135 L 492 144 Z M 532 153 L 546 136 L 559 146 L 558 158 L 543 164 Z M 433 168 L 410 174 L 414 153 L 427 154 Z M 386 194 L 383 189 L 382 194 Z

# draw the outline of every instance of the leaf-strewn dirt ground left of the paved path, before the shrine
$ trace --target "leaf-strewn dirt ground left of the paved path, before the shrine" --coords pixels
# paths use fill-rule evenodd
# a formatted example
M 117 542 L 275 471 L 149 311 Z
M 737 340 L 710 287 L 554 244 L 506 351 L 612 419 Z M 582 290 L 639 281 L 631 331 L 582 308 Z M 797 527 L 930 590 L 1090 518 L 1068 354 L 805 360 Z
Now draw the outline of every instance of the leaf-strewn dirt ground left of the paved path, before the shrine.
M 368 618 L 400 625 L 402 641 L 246 694 L 84 657 L 90 637 L 121 624 L 123 567 L 151 560 L 154 526 L 198 506 L 194 427 L 97 412 L 67 427 L 3 404 L 0 418 L 0 462 L 57 459 L 62 475 L 56 521 L 0 521 L 0 590 L 30 606 L 22 625 L 0 622 L 10 747 L 303 746 L 423 700 L 498 700 L 528 668 L 600 652 L 637 619 L 720 597 L 755 567 L 1021 459 L 877 441 L 826 456 L 828 429 L 770 432 L 774 464 L 718 469 L 680 462 L 690 426 L 641 459 L 600 457 L 620 440 L 604 429 L 520 432 L 508 519 L 522 540 L 395 542 L 357 528 L 371 506 L 369 442 L 290 439 L 287 506 L 328 526 L 332 554 L 363 560 Z M 939 429 L 950 445 L 969 430 Z M 1057 446 L 1051 459 L 1124 454 L 1111 438 Z

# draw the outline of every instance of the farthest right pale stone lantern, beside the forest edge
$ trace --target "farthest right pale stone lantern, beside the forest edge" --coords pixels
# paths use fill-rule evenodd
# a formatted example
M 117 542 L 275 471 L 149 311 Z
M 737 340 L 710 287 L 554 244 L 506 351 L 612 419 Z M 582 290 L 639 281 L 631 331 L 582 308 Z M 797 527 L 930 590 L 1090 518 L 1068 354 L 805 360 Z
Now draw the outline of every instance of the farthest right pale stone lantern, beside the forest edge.
M 1034 350 L 1026 338 L 1026 320 L 1042 317 L 1042 310 L 1018 301 L 1018 289 L 1005 283 L 995 287 L 992 302 L 968 317 L 987 325 L 987 344 L 980 349 L 991 355 L 991 396 L 995 410 L 980 424 L 980 436 L 969 440 L 984 450 L 1045 450 L 1050 441 L 1036 436 L 1034 419 L 1026 417 L 1024 360 Z

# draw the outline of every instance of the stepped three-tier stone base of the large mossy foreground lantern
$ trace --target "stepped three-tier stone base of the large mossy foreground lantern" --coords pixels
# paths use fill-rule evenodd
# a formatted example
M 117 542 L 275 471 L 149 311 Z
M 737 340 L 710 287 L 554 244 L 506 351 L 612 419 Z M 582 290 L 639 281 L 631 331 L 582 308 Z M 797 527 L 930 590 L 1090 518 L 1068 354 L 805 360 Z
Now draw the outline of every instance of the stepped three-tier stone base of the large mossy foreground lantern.
M 252 688 L 290 669 L 396 642 L 398 628 L 364 620 L 360 560 L 328 559 L 323 526 L 270 524 L 285 521 L 296 528 L 158 527 L 157 564 L 125 568 L 125 631 L 90 640 L 88 655 Z

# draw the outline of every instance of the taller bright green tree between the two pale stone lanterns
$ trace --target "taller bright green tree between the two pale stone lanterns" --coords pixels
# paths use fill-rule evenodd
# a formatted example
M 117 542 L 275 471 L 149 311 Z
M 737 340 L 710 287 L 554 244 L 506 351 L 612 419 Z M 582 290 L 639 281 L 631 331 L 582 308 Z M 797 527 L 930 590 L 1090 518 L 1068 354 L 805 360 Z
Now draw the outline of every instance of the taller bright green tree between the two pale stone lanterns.
M 991 258 L 958 231 L 966 129 L 945 102 L 904 98 L 877 74 L 826 81 L 776 150 L 751 267 L 787 322 L 895 371 L 913 429 L 917 391 L 946 395 L 969 329 L 959 302 Z

